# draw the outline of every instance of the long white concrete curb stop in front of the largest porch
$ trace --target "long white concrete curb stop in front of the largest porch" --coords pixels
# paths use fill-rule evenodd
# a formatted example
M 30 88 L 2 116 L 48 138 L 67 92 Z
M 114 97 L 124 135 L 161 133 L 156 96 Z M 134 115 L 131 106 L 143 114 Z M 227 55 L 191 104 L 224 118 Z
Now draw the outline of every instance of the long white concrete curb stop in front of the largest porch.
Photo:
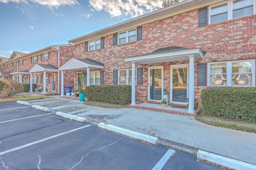
M 130 139 L 135 139 L 138 140 L 142 143 L 147 143 L 149 145 L 153 145 L 156 146 L 158 143 L 158 138 L 147 135 L 147 134 L 143 134 L 143 133 L 139 133 L 139 132 L 135 132 L 135 131 L 131 131 L 131 130 L 127 130 L 124 128 L 120 128 L 118 126 L 114 126 L 111 124 L 105 124 L 105 123 L 99 123 L 98 124 L 98 128 L 105 130 L 105 131 L 109 131 L 109 132 L 113 132 L 115 134 L 120 134 L 123 135 L 124 137 L 130 138 Z

